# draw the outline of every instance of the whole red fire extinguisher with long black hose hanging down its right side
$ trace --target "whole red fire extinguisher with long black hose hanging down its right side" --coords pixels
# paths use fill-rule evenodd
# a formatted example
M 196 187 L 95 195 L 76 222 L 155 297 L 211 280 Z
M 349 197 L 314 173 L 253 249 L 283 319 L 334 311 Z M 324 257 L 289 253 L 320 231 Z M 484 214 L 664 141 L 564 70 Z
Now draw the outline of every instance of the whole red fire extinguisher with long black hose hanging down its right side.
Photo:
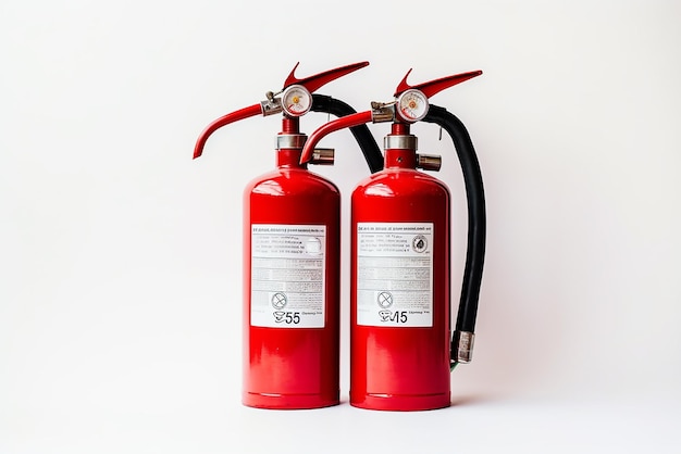
M 384 139 L 385 168 L 361 181 L 351 200 L 350 404 L 419 411 L 450 405 L 449 373 L 468 363 L 474 338 L 485 248 L 485 203 L 480 165 L 463 124 L 429 104 L 435 93 L 482 72 L 407 84 L 395 100 L 326 123 L 307 141 L 307 162 L 325 135 L 369 122 L 392 122 Z M 468 199 L 466 269 L 456 330 L 450 327 L 450 194 L 417 168 L 438 171 L 441 157 L 417 154 L 410 125 L 438 124 L 461 163 Z

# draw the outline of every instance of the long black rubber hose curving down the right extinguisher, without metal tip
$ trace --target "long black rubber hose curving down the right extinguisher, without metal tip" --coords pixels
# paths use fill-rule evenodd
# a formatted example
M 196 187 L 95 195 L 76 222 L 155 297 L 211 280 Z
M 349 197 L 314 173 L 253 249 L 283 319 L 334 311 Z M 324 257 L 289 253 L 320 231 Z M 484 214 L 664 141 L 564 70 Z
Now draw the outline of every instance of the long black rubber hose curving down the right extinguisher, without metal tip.
M 431 104 L 423 122 L 435 123 L 449 134 L 461 163 L 468 199 L 468 251 L 456 329 L 457 331 L 474 332 L 485 260 L 486 235 L 485 192 L 480 163 L 471 137 L 463 123 L 456 115 L 447 112 L 444 108 Z

